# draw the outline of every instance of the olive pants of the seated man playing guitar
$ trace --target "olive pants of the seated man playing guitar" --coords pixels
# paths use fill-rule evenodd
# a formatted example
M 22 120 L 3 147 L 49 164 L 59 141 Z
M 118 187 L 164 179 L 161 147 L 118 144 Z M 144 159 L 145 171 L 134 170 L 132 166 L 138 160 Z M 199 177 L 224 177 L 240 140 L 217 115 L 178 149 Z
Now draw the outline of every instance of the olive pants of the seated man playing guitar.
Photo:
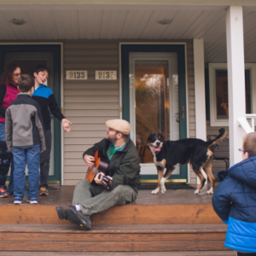
M 84 215 L 106 211 L 113 206 L 121 206 L 135 201 L 137 193 L 127 185 L 119 185 L 107 190 L 101 185 L 90 184 L 83 179 L 77 183 L 73 193 L 73 205 L 79 204 Z

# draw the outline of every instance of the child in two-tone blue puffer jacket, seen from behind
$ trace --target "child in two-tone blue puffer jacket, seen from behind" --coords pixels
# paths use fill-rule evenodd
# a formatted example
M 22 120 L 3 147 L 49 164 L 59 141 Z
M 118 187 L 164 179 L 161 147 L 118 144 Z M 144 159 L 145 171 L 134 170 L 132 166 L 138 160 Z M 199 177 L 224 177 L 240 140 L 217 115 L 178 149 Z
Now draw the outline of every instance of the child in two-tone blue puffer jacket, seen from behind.
M 224 180 L 212 197 L 212 206 L 228 224 L 224 246 L 238 256 L 249 256 L 256 255 L 256 132 L 243 137 L 239 150 L 242 161 L 218 173 Z

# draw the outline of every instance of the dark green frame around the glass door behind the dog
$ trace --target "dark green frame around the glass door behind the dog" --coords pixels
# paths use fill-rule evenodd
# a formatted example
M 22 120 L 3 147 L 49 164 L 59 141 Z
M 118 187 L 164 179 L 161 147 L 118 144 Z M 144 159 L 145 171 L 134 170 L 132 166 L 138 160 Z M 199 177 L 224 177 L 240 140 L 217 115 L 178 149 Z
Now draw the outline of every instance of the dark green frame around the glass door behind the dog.
M 177 53 L 178 73 L 178 106 L 179 111 L 187 109 L 186 98 L 186 63 L 185 44 L 121 44 L 121 73 L 122 73 L 122 109 L 123 119 L 130 121 L 130 82 L 129 82 L 129 54 L 130 52 L 175 52 Z M 180 117 L 180 139 L 187 138 L 187 113 Z M 188 166 L 180 166 L 180 174 L 173 174 L 172 179 L 186 179 L 188 181 Z M 170 178 L 171 178 L 170 177 Z M 143 179 L 157 179 L 157 175 L 143 175 Z

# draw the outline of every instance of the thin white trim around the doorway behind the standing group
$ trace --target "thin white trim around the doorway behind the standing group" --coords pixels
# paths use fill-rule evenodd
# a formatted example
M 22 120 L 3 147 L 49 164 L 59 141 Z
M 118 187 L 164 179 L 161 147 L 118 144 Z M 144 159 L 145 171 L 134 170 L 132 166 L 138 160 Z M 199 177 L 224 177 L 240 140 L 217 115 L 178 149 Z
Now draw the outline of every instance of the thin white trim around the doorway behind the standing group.
M 61 108 L 63 108 L 63 43 L 0 43 L 0 45 L 27 45 L 27 44 L 60 44 L 61 45 Z M 64 181 L 64 135 L 63 129 L 61 125 L 61 185 L 63 185 Z

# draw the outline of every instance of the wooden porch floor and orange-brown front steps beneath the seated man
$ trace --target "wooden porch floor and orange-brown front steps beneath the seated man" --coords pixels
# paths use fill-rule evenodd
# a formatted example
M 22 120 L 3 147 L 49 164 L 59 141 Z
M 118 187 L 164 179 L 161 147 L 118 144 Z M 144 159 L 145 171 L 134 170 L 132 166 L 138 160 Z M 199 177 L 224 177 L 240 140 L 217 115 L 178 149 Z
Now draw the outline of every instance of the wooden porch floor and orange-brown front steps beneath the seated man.
M 212 195 L 206 194 L 207 188 L 202 189 L 200 195 L 194 195 L 195 188 L 190 187 L 168 189 L 164 195 L 139 190 L 137 201 L 94 214 L 90 231 L 78 230 L 67 220 L 60 220 L 55 212 L 56 206 L 71 203 L 73 186 L 49 190 L 49 196 L 38 197 L 38 205 L 24 202 L 17 206 L 13 198 L 3 198 L 0 201 L 0 249 L 27 255 L 29 252 L 194 255 L 195 251 L 198 255 L 233 255 L 228 251 L 218 253 L 226 251 L 226 225 L 212 209 Z

